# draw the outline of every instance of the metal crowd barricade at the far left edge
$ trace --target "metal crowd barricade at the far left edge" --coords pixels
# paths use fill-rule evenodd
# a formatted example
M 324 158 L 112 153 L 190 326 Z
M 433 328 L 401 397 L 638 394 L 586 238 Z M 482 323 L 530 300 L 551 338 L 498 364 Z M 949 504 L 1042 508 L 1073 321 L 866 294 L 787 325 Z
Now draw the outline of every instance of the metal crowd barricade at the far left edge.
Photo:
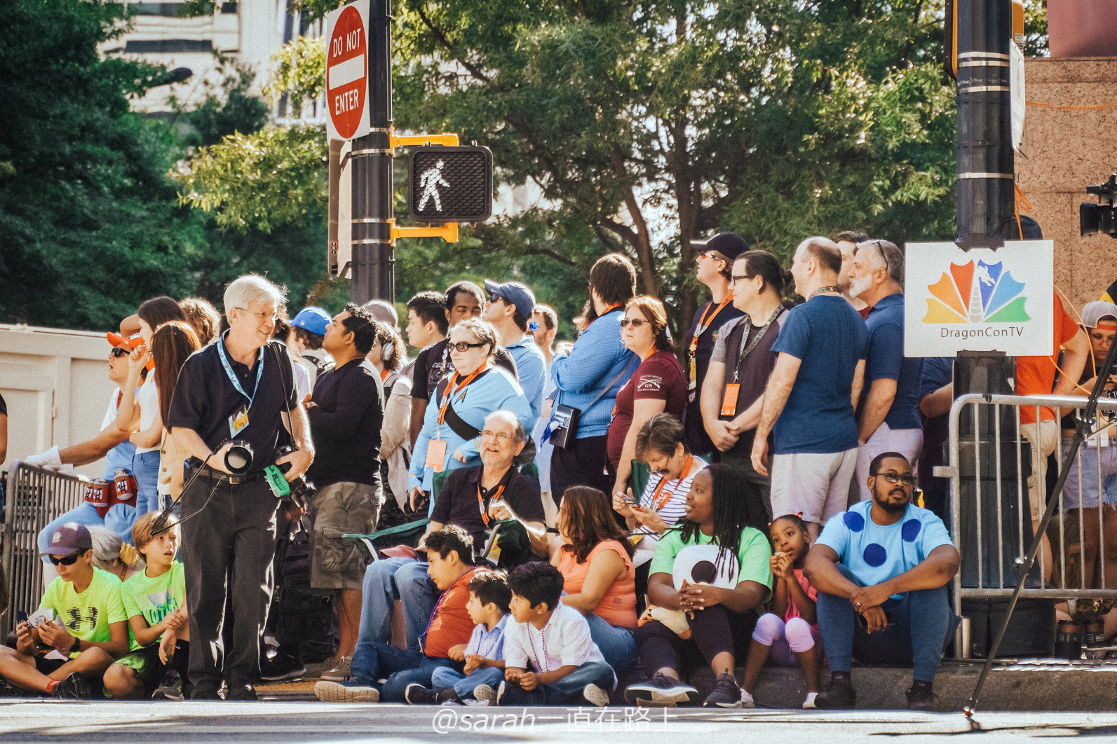
M 0 618 L 3 638 L 16 628 L 16 612 L 31 612 L 38 609 L 42 599 L 39 532 L 82 503 L 88 482 L 88 479 L 78 475 L 57 473 L 20 461 L 8 472 L 2 561 L 10 600 L 9 611 Z

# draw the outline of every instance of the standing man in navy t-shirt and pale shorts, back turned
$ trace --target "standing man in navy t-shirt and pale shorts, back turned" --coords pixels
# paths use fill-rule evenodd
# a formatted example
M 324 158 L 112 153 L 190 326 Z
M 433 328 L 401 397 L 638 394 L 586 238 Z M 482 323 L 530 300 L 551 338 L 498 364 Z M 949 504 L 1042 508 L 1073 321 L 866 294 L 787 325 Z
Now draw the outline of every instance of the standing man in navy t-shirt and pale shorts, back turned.
M 857 465 L 853 404 L 861 395 L 868 332 L 838 291 L 841 252 L 833 241 L 808 238 L 791 273 L 806 302 L 792 308 L 772 345 L 775 368 L 764 389 L 753 439 L 753 468 L 767 475 L 774 434 L 772 513 L 801 513 L 812 538 L 846 509 Z

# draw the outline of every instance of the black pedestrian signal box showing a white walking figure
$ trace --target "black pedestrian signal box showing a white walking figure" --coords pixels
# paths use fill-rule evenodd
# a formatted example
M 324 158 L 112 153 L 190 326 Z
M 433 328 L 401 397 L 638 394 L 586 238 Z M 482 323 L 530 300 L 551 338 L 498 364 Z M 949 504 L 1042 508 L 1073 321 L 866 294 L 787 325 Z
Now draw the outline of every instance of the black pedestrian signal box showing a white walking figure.
M 408 212 L 416 222 L 485 222 L 493 215 L 488 147 L 416 147 L 410 165 Z

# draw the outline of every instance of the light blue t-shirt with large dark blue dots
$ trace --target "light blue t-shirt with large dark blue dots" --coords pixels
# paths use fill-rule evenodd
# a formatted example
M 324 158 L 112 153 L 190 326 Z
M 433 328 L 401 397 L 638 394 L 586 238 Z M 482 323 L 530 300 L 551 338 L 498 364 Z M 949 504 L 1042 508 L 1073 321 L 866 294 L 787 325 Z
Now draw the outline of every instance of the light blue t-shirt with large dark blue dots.
M 819 535 L 819 543 L 833 548 L 867 587 L 911 570 L 939 545 L 954 544 L 943 520 L 926 509 L 908 504 L 903 519 L 882 526 L 872 521 L 871 508 L 871 501 L 855 504 L 827 522 Z

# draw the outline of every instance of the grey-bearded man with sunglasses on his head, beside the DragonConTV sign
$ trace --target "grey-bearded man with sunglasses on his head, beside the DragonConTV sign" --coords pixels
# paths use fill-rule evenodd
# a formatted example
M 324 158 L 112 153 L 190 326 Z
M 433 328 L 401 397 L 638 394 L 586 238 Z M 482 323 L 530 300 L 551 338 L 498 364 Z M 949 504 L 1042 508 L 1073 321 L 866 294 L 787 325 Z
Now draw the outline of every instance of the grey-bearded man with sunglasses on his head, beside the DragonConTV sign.
M 881 452 L 898 452 L 914 461 L 923 447 L 919 421 L 923 359 L 904 355 L 900 249 L 887 240 L 860 243 L 849 276 L 850 293 L 871 308 L 865 321 L 869 351 L 857 421 L 857 485 L 861 501 L 868 501 L 866 479 L 873 457 Z

